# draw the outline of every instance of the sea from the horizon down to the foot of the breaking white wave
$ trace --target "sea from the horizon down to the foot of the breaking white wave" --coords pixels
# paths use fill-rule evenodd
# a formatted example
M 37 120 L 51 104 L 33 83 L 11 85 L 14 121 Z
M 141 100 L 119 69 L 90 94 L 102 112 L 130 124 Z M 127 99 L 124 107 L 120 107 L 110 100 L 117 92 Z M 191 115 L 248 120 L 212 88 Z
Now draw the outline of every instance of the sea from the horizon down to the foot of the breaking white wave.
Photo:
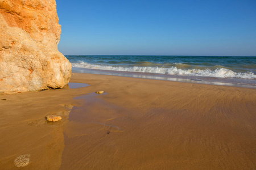
M 163 75 L 256 79 L 256 57 L 66 56 L 72 67 Z

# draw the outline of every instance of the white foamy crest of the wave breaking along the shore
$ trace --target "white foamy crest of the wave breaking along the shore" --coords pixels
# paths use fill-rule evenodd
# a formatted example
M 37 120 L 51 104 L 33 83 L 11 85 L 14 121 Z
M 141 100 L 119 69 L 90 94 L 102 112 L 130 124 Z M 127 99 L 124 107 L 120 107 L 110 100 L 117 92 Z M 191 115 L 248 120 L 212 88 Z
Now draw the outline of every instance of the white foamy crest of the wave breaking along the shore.
M 193 75 L 193 76 L 212 76 L 218 78 L 243 78 L 256 79 L 256 75 L 252 72 L 236 73 L 229 69 L 218 68 L 216 70 L 200 70 L 200 69 L 177 69 L 177 67 L 162 68 L 162 67 L 113 67 L 106 65 L 91 65 L 86 62 L 72 63 L 73 67 L 86 69 L 112 70 L 112 71 L 130 71 L 141 73 L 159 73 L 159 74 L 174 74 L 174 75 Z

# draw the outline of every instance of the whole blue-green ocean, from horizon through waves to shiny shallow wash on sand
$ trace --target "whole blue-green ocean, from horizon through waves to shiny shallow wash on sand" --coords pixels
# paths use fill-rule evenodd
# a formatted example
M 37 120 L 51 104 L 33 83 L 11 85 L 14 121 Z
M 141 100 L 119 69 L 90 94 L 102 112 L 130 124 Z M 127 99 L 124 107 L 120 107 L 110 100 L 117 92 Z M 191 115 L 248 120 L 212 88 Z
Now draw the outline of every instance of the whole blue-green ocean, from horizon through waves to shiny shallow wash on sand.
M 65 56 L 73 71 L 227 86 L 256 87 L 256 57 Z

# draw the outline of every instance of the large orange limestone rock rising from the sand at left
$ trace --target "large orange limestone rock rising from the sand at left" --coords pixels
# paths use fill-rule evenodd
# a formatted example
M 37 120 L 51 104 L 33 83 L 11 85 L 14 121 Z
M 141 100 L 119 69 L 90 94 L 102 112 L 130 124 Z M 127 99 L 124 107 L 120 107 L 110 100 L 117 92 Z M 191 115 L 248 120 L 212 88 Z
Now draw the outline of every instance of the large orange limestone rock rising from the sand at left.
M 0 94 L 68 84 L 60 34 L 55 0 L 0 0 Z

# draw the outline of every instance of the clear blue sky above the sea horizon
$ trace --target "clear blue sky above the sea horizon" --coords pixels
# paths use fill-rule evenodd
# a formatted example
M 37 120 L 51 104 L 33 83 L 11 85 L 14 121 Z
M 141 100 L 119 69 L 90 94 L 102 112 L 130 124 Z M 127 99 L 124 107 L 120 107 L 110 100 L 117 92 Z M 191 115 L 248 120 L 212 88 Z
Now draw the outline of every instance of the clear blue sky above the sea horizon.
M 63 54 L 256 56 L 256 1 L 56 0 Z

